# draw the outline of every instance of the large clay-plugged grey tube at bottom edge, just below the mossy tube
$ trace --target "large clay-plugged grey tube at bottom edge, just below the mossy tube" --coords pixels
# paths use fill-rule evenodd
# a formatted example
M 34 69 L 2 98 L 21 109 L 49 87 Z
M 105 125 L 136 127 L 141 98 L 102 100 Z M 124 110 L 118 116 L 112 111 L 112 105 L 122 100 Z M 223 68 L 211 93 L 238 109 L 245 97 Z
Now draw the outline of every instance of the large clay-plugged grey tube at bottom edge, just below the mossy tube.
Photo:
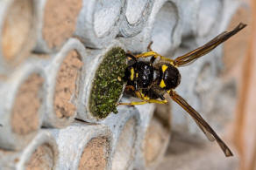
M 113 139 L 107 126 L 75 121 L 50 131 L 60 150 L 56 169 L 110 169 Z

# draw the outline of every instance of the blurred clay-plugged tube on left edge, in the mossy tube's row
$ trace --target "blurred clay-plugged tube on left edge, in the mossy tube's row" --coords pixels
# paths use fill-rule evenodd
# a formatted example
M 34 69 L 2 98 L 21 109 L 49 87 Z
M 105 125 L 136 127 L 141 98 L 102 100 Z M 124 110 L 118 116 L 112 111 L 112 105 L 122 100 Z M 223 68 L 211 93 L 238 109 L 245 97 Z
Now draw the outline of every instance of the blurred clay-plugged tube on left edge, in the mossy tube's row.
M 30 60 L 0 83 L 2 148 L 21 149 L 39 130 L 45 112 L 45 81 L 39 62 Z

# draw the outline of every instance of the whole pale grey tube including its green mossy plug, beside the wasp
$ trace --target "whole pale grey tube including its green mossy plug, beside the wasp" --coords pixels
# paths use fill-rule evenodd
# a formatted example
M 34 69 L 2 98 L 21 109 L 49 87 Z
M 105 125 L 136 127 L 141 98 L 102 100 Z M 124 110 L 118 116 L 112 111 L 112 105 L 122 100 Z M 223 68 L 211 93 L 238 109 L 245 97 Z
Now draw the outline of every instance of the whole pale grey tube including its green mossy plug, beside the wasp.
M 106 49 L 88 52 L 84 83 L 79 97 L 78 119 L 98 122 L 114 112 L 124 91 L 121 78 L 126 67 L 126 57 L 123 49 L 123 44 L 113 41 Z M 106 108 L 105 105 L 109 105 L 109 110 L 112 111 L 101 110 L 100 107 Z

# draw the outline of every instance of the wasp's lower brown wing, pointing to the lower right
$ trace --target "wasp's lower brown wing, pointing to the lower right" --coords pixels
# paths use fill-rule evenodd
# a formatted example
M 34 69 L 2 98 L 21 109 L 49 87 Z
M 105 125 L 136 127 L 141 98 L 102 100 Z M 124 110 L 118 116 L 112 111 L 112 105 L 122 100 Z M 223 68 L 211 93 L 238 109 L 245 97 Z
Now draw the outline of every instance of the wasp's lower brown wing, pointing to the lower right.
M 224 141 L 222 139 L 220 139 L 217 136 L 217 133 L 214 132 L 214 130 L 210 127 L 210 125 L 202 118 L 202 116 L 196 112 L 196 110 L 191 107 L 190 105 L 188 105 L 188 103 L 186 102 L 185 99 L 182 99 L 180 95 L 178 95 L 176 92 L 174 91 L 170 91 L 168 92 L 171 96 L 171 98 L 179 105 L 181 105 L 181 107 L 188 112 L 188 114 L 196 120 L 196 124 L 199 125 L 199 127 L 203 130 L 203 133 L 208 134 L 210 133 L 210 135 L 212 135 L 216 140 L 217 140 L 217 144 L 221 147 L 221 149 L 223 150 L 225 156 L 232 156 L 233 154 L 231 153 L 231 150 L 229 149 L 228 146 L 226 146 L 224 144 Z

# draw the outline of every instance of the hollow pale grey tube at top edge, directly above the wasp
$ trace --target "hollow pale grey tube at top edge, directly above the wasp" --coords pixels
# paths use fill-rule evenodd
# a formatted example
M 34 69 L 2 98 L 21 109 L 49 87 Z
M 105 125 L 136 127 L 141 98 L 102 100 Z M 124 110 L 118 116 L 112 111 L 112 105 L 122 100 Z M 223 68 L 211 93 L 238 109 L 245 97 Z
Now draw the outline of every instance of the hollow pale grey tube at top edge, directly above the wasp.
M 146 21 L 146 26 L 135 37 L 119 37 L 128 51 L 140 53 L 146 51 L 153 41 L 153 51 L 170 55 L 170 51 L 181 43 L 181 11 L 175 1 L 154 1 L 153 9 Z

